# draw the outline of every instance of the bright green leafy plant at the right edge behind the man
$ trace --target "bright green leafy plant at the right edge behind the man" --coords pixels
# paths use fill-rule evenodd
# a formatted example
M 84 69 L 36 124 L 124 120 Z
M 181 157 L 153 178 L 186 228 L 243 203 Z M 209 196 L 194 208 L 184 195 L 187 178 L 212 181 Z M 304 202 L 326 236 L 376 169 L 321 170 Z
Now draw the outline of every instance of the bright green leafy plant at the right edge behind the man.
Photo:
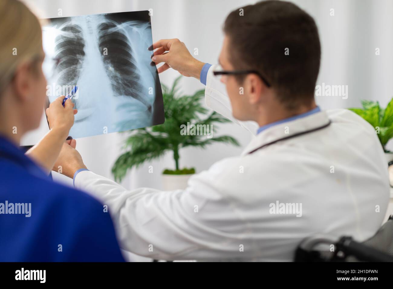
M 380 107 L 378 101 L 362 100 L 363 108 L 352 108 L 352 110 L 375 129 L 379 141 L 385 151 L 387 162 L 393 160 L 393 152 L 386 149 L 386 144 L 393 138 L 393 98 L 387 104 L 386 109 Z

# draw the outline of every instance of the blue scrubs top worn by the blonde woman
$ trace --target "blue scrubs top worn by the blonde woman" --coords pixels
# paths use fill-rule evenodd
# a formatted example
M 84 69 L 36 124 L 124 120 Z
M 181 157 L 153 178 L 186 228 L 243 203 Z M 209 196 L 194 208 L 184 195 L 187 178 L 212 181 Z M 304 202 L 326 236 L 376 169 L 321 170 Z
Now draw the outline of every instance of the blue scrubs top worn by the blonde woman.
M 103 205 L 53 182 L 1 136 L 0 261 L 124 261 Z

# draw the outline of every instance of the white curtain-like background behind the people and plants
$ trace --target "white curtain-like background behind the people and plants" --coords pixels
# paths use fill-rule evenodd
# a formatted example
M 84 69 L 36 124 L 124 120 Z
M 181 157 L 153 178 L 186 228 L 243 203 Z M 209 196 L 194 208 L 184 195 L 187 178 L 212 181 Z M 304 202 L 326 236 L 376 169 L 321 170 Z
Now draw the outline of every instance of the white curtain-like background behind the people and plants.
M 222 23 L 226 15 L 245 4 L 246 0 L 25 0 L 38 10 L 42 18 L 95 13 L 112 13 L 153 9 L 153 41 L 178 38 L 193 52 L 198 48 L 200 61 L 216 63 L 220 52 Z M 385 106 L 393 96 L 393 1 L 391 0 L 297 0 L 293 1 L 314 17 L 321 44 L 322 62 L 318 84 L 348 85 L 349 97 L 317 97 L 322 109 L 360 106 L 360 99 L 373 99 Z M 330 16 L 330 9 L 334 16 Z M 245 16 L 246 17 L 246 16 Z M 375 55 L 380 48 L 380 55 Z M 160 80 L 171 85 L 177 72 L 167 71 Z M 196 79 L 184 78 L 182 90 L 191 94 L 204 88 Z M 235 124 L 222 125 L 218 134 L 231 134 L 244 147 L 250 135 Z M 111 167 L 121 153 L 126 134 L 113 133 L 77 140 L 77 149 L 86 166 L 112 178 Z M 392 149 L 390 144 L 388 148 Z M 181 166 L 194 166 L 197 171 L 227 156 L 238 155 L 241 148 L 215 144 L 206 150 L 184 149 L 180 152 Z M 152 165 L 154 173 L 148 173 Z M 160 174 L 173 168 L 171 153 L 133 169 L 123 180 L 127 188 L 148 186 L 161 188 Z

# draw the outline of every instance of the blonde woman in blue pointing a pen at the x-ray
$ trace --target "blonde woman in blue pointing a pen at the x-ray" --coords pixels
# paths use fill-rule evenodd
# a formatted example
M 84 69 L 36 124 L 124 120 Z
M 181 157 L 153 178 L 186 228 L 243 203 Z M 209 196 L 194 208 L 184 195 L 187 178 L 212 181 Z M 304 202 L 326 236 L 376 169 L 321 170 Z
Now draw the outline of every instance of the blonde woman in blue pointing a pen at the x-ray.
M 103 205 L 48 177 L 73 124 L 72 102 L 51 103 L 50 132 L 26 155 L 18 148 L 46 101 L 41 27 L 18 0 L 0 1 L 0 40 L 0 261 L 123 261 Z

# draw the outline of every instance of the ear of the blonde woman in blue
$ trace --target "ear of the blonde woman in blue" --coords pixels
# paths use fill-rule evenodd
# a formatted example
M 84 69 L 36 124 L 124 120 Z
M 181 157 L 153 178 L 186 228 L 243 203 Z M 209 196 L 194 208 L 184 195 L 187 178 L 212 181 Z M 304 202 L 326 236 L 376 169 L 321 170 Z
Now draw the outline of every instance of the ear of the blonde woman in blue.
M 31 70 L 28 63 L 20 64 L 15 71 L 12 85 L 18 101 L 26 101 L 31 95 Z

